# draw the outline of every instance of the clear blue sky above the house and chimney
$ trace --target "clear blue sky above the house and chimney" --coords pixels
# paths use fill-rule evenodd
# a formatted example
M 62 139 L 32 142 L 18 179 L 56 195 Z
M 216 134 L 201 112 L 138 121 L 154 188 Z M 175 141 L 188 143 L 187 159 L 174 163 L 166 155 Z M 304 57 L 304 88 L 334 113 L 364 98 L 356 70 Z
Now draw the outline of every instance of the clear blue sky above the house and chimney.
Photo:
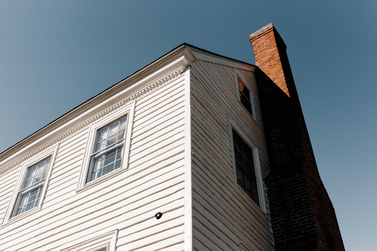
M 273 23 L 347 251 L 377 236 L 377 1 L 0 0 L 0 152 L 182 43 L 255 64 Z

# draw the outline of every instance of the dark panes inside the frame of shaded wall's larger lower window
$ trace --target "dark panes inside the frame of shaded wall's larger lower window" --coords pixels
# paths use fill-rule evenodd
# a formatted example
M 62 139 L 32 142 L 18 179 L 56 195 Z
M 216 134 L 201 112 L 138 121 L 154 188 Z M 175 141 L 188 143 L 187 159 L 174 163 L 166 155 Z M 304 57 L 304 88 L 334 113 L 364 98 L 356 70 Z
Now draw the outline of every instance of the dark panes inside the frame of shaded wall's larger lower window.
M 233 146 L 237 184 L 259 205 L 253 149 L 233 129 Z

